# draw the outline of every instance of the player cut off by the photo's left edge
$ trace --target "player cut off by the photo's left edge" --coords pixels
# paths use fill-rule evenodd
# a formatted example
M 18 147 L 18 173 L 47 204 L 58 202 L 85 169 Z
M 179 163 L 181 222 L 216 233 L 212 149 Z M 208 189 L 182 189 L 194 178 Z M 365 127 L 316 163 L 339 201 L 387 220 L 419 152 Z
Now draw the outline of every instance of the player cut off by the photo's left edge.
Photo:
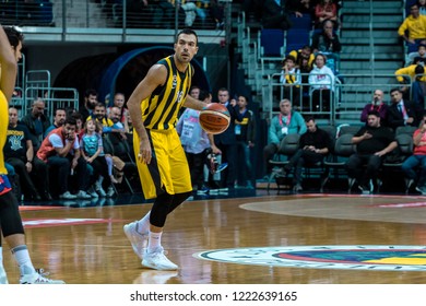
M 3 31 L 0 26 L 0 229 L 20 267 L 21 284 L 63 284 L 63 281 L 47 279 L 34 269 L 25 245 L 24 227 L 17 209 L 17 200 L 11 191 L 4 167 L 3 145 L 9 122 L 8 108 L 15 85 L 16 62 L 21 58 L 22 40 L 23 35 L 16 28 L 5 27 Z M 0 240 L 0 283 L 7 284 L 8 278 L 2 262 Z

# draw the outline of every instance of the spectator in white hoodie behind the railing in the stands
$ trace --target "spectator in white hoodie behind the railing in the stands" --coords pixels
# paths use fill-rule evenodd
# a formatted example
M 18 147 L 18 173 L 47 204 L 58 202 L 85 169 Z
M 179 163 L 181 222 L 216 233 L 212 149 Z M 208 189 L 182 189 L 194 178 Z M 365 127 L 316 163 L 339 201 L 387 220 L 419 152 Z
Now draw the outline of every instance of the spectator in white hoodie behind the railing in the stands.
M 309 85 L 312 96 L 312 111 L 330 111 L 334 91 L 334 73 L 326 66 L 327 57 L 318 54 L 315 67 L 309 73 Z

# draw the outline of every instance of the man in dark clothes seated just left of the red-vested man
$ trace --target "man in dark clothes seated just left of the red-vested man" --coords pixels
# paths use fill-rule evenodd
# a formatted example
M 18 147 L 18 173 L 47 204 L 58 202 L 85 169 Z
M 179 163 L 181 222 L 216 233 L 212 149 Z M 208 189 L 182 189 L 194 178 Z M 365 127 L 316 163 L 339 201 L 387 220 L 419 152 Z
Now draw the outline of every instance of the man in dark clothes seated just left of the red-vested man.
M 45 131 L 51 125 L 50 119 L 45 115 L 45 102 L 42 98 L 33 102 L 31 113 L 22 118 L 21 123 L 28 128 L 34 152 L 37 152 L 44 139 Z

